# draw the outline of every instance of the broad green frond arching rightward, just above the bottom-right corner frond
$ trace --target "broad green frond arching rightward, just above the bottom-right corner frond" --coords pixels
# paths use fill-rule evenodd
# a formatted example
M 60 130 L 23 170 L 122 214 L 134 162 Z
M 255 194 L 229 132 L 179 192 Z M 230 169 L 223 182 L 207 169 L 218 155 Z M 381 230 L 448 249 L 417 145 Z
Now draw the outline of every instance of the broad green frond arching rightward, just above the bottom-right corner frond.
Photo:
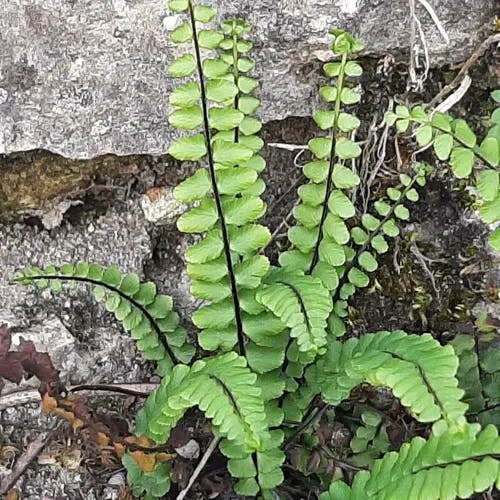
M 420 422 L 465 422 L 467 405 L 455 377 L 458 360 L 451 346 L 429 334 L 379 332 L 334 342 L 306 373 L 308 385 L 336 405 L 361 383 L 389 387 Z

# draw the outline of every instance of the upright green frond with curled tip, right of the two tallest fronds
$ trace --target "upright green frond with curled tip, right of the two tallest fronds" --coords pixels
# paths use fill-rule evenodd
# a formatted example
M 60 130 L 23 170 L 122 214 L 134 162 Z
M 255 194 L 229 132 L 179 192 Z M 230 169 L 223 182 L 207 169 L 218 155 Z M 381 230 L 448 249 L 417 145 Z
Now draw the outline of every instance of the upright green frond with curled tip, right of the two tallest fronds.
M 344 191 L 359 184 L 357 174 L 344 163 L 361 154 L 361 148 L 349 138 L 360 122 L 354 115 L 341 112 L 341 107 L 359 102 L 359 94 L 347 87 L 346 79 L 362 73 L 358 63 L 348 61 L 350 54 L 362 48 L 359 41 L 341 31 L 332 34 L 332 50 L 340 61 L 326 64 L 324 70 L 328 77 L 337 79 L 337 85 L 322 87 L 320 95 L 334 106 L 314 115 L 329 136 L 309 142 L 315 160 L 304 166 L 309 183 L 299 188 L 301 202 L 294 209 L 298 225 L 288 232 L 293 249 L 280 256 L 283 267 L 317 276 L 331 291 L 338 285 L 337 269 L 345 263 L 343 247 L 350 240 L 344 220 L 355 214 Z

